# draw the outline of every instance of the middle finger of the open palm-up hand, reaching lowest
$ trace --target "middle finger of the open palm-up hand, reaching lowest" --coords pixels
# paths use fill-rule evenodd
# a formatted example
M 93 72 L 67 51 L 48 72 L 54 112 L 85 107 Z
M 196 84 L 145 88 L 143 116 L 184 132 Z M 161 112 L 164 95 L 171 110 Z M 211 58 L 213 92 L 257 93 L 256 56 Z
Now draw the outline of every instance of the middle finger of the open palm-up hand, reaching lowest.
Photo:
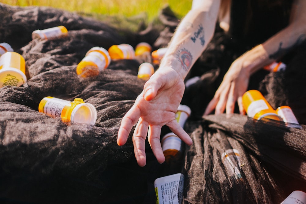
M 149 125 L 147 122 L 139 119 L 134 134 L 133 134 L 133 145 L 134 154 L 139 166 L 146 165 L 146 151 L 145 151 L 145 139 L 147 137 Z

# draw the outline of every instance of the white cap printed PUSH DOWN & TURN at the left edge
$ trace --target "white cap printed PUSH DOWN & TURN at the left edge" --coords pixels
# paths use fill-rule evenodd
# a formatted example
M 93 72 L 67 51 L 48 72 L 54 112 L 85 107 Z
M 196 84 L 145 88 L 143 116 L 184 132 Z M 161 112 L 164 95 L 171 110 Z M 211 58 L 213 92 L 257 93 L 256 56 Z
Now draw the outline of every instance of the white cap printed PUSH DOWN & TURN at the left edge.
M 21 86 L 27 81 L 23 72 L 16 68 L 0 69 L 0 88 L 4 86 Z

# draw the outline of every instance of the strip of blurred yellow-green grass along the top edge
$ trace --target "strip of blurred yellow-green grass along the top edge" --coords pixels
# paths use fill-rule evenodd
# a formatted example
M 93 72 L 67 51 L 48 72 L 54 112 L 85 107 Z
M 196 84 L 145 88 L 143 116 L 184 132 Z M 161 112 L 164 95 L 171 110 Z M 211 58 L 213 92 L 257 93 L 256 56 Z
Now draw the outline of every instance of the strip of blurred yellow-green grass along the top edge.
M 178 18 L 185 16 L 192 0 L 2 0 L 12 6 L 49 6 L 89 15 L 133 17 L 145 14 L 151 21 L 169 5 Z

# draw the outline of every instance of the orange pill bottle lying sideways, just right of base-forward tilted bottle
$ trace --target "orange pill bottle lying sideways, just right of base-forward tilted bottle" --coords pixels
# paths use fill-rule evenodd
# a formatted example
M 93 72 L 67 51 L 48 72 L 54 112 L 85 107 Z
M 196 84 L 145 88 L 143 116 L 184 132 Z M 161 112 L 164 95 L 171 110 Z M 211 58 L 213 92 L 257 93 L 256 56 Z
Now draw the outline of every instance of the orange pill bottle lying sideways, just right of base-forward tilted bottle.
M 129 44 L 113 45 L 108 49 L 108 53 L 112 60 L 135 58 L 134 48 Z

